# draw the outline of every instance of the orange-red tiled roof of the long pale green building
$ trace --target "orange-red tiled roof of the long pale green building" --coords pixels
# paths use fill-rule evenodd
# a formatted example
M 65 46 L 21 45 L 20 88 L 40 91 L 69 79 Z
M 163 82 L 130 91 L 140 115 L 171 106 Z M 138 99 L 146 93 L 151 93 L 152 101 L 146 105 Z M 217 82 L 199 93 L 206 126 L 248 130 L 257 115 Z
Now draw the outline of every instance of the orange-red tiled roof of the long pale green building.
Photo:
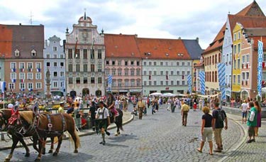
M 137 38 L 142 58 L 191 59 L 181 39 Z

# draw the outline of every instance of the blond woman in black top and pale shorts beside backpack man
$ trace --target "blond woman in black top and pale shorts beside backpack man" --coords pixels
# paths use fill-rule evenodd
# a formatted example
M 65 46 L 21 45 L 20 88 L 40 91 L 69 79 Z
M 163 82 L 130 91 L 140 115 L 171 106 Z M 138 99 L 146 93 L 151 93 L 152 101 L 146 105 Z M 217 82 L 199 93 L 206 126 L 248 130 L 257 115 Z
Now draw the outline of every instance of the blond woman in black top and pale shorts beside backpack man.
M 201 146 L 200 148 L 197 148 L 196 150 L 199 151 L 200 153 L 202 153 L 202 148 L 204 147 L 204 143 L 206 141 L 206 139 L 209 142 L 209 154 L 212 155 L 213 154 L 213 143 L 212 143 L 212 134 L 213 134 L 213 130 L 212 130 L 212 124 L 213 124 L 213 118 L 211 116 L 211 114 L 209 114 L 210 109 L 209 107 L 203 107 L 202 112 L 204 112 L 204 115 L 202 115 L 201 117 Z

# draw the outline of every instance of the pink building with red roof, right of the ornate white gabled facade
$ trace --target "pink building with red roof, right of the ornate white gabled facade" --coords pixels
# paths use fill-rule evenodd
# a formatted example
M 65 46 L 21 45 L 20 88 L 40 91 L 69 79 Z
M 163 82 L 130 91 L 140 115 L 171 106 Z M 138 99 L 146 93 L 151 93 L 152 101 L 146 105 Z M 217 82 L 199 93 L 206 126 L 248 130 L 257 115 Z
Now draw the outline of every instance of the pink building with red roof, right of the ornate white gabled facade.
M 141 94 L 142 66 L 136 38 L 136 35 L 104 34 L 106 91 L 109 90 L 108 76 L 111 75 L 111 92 Z

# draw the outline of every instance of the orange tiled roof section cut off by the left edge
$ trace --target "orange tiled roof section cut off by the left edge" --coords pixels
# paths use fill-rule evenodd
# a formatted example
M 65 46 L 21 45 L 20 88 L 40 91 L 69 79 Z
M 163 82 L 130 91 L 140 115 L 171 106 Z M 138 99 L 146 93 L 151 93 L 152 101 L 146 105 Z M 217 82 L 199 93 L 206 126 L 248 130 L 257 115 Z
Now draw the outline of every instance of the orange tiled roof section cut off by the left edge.
M 0 57 L 5 55 L 5 57 L 10 58 L 12 54 L 12 29 L 5 25 L 0 24 Z

